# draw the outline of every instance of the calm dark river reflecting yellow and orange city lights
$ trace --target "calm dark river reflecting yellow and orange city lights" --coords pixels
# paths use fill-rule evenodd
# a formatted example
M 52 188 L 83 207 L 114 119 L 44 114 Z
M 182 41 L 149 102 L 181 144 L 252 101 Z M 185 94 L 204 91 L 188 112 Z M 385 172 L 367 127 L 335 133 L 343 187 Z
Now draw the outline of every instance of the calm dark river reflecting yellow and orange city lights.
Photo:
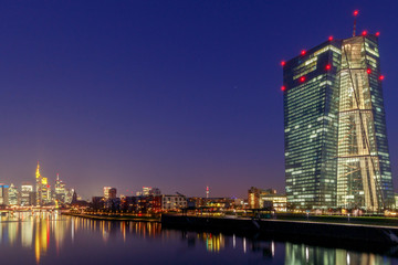
M 398 264 L 398 247 L 377 254 L 369 248 L 163 230 L 159 223 L 57 213 L 2 216 L 0 222 L 0 264 Z

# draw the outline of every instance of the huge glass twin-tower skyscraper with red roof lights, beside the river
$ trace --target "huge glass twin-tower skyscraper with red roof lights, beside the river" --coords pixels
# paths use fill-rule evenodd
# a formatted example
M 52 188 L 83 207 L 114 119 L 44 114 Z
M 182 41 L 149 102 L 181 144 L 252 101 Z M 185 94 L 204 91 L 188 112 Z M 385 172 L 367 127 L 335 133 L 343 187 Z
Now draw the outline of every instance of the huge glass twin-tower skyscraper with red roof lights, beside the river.
M 331 38 L 282 65 L 289 205 L 390 208 L 377 34 Z

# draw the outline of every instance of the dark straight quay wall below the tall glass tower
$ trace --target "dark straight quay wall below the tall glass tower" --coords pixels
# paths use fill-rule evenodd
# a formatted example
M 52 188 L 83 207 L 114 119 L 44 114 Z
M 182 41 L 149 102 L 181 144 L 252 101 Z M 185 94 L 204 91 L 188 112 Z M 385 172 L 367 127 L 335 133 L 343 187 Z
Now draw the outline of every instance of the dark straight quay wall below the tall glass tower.
M 396 226 L 167 214 L 161 215 L 161 225 L 166 229 L 209 230 L 284 240 L 311 239 L 315 241 L 398 245 L 398 227 Z

